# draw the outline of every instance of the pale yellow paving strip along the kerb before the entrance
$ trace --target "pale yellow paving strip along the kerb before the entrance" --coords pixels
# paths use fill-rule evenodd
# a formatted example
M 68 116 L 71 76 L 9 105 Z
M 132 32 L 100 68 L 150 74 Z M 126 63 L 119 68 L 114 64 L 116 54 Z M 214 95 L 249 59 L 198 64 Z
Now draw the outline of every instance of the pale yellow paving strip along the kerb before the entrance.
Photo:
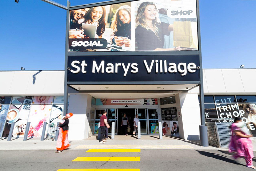
M 189 145 L 79 145 L 75 149 L 194 149 Z

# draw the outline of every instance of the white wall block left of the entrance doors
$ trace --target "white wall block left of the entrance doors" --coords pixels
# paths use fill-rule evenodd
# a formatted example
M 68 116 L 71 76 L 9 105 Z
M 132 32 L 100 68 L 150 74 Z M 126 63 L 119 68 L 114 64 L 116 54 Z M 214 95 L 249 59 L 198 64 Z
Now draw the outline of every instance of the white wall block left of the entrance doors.
M 69 119 L 68 138 L 83 140 L 89 137 L 89 117 L 91 113 L 91 95 L 71 94 L 68 113 L 74 115 Z

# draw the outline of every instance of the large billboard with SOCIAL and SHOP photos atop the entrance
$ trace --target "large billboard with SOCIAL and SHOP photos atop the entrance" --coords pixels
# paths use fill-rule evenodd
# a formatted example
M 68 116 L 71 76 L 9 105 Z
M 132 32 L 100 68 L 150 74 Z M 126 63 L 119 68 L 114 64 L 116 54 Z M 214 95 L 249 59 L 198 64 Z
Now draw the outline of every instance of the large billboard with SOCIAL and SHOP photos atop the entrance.
M 198 50 L 197 37 L 196 0 L 140 0 L 70 11 L 70 52 Z

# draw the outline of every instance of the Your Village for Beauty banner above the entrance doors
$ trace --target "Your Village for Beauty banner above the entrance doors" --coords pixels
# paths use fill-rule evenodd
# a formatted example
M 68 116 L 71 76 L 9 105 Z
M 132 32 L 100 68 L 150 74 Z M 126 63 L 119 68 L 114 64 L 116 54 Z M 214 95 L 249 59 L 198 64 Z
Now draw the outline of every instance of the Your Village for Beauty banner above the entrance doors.
M 157 99 L 96 99 L 96 105 L 158 105 Z

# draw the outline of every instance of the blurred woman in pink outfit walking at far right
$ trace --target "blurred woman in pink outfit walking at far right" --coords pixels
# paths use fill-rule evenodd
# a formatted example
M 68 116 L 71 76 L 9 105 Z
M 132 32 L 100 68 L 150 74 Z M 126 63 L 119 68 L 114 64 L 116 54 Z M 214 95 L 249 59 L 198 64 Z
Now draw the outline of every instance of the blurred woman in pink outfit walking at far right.
M 237 117 L 234 119 L 234 123 L 230 129 L 232 132 L 231 142 L 229 145 L 229 152 L 235 152 L 234 159 L 244 156 L 246 166 L 252 169 L 256 169 L 253 166 L 253 145 L 249 139 L 252 135 L 247 131 L 247 128 L 241 118 Z

